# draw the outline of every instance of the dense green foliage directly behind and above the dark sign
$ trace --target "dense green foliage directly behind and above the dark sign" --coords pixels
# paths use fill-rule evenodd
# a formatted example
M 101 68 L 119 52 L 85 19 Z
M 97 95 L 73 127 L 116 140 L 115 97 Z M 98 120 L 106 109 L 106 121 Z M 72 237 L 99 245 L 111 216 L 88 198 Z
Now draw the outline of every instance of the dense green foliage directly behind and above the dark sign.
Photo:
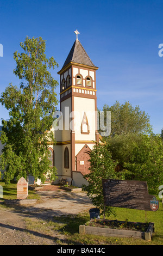
M 147 181 L 149 192 L 158 192 L 163 183 L 163 143 L 160 135 L 131 134 L 110 137 L 106 142 L 116 172 L 127 180 Z

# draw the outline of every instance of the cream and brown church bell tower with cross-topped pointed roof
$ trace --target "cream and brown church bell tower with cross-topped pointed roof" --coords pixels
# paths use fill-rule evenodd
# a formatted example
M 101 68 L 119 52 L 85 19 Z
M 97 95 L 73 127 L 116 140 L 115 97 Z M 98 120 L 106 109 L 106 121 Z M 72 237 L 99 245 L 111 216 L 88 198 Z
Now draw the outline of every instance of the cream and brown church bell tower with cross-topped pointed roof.
M 76 41 L 68 54 L 60 75 L 60 111 L 63 115 L 62 153 L 68 149 L 69 165 L 64 167 L 72 183 L 81 186 L 83 175 L 89 172 L 89 153 L 99 141 L 97 131 L 97 96 L 95 66 L 82 44 Z M 64 159 L 62 159 L 65 161 Z M 63 170 L 63 172 L 64 172 Z M 62 173 L 65 175 L 65 173 Z

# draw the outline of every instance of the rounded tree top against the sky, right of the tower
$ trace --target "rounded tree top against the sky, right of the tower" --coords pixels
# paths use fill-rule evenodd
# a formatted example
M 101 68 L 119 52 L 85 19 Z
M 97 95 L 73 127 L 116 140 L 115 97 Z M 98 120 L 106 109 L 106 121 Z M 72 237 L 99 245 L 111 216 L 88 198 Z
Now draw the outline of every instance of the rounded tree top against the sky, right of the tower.
M 105 104 L 102 111 L 105 115 L 106 111 L 111 112 L 112 137 L 115 135 L 127 135 L 128 133 L 147 133 L 152 130 L 152 126 L 149 124 L 149 116 L 145 111 L 141 111 L 139 106 L 134 108 L 127 101 L 122 105 L 116 101 L 111 107 Z M 101 125 L 99 127 L 99 133 L 105 130 Z

